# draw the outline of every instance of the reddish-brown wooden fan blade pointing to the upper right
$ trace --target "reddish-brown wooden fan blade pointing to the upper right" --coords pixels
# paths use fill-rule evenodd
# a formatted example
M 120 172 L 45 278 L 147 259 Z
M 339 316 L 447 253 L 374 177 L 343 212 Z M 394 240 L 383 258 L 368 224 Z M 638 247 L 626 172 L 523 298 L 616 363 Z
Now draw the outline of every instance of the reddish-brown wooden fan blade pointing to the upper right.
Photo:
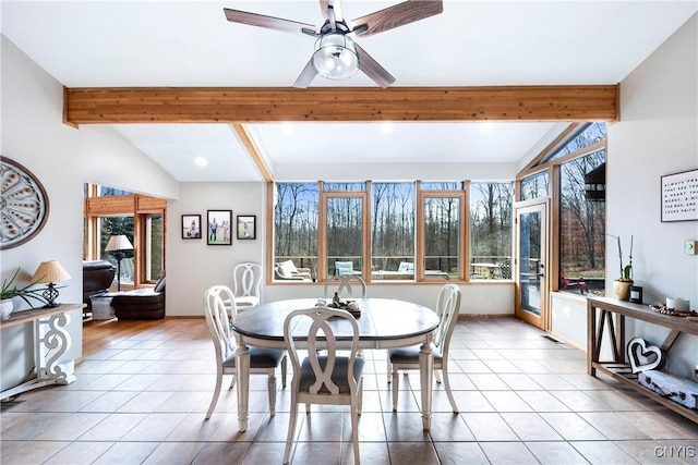
M 408 0 L 353 20 L 351 30 L 368 26 L 363 32 L 356 30 L 356 33 L 358 36 L 369 37 L 440 14 L 443 11 L 442 0 Z

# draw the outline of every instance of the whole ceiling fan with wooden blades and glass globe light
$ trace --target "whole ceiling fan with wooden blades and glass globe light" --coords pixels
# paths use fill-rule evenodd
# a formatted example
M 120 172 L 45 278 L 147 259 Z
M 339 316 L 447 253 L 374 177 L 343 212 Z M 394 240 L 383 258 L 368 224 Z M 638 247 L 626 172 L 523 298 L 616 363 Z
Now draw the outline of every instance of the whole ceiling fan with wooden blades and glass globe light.
M 296 79 L 293 87 L 305 88 L 320 74 L 328 79 L 347 79 L 361 70 L 385 88 L 395 77 L 366 53 L 354 39 L 369 37 L 443 12 L 442 0 L 408 0 L 347 22 L 339 0 L 320 0 L 325 23 L 320 27 L 280 17 L 224 8 L 233 23 L 267 27 L 316 37 L 315 52 Z

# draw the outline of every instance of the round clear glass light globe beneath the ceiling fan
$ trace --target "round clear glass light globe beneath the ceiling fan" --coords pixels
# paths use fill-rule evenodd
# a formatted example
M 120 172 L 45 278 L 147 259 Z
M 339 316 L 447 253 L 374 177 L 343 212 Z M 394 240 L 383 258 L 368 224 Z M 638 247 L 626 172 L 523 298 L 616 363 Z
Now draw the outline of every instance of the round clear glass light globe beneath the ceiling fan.
M 325 34 L 317 40 L 317 50 L 313 53 L 313 66 L 328 79 L 348 79 L 359 70 L 359 57 L 353 41 L 344 34 Z

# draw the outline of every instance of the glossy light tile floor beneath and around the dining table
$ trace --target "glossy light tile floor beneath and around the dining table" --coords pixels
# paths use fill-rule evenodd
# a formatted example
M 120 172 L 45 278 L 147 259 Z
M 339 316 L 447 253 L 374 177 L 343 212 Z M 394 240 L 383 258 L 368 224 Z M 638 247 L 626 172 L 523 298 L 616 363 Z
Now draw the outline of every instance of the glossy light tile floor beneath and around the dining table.
M 585 354 L 512 318 L 465 319 L 452 342 L 460 414 L 434 389 L 432 429 L 418 409 L 419 375 L 401 378 L 392 412 L 385 353 L 368 351 L 364 464 L 697 463 L 698 425 L 611 378 Z M 290 368 L 289 368 L 290 369 Z M 250 428 L 237 430 L 236 391 L 204 420 L 215 379 L 203 319 L 167 319 L 85 357 L 77 381 L 3 404 L 0 462 L 9 464 L 278 464 L 290 393 L 269 417 L 266 378 L 252 378 Z M 227 382 L 227 380 L 224 380 Z M 353 463 L 345 407 L 300 414 L 294 464 Z M 342 413 L 345 412 L 345 413 Z

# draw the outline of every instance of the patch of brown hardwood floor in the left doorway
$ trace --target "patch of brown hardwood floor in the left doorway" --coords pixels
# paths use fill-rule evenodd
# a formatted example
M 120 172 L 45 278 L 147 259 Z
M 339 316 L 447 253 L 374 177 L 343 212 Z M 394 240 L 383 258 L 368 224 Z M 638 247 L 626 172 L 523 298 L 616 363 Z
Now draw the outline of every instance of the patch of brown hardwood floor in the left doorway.
M 94 320 L 83 321 L 83 357 L 148 329 L 164 320 Z

